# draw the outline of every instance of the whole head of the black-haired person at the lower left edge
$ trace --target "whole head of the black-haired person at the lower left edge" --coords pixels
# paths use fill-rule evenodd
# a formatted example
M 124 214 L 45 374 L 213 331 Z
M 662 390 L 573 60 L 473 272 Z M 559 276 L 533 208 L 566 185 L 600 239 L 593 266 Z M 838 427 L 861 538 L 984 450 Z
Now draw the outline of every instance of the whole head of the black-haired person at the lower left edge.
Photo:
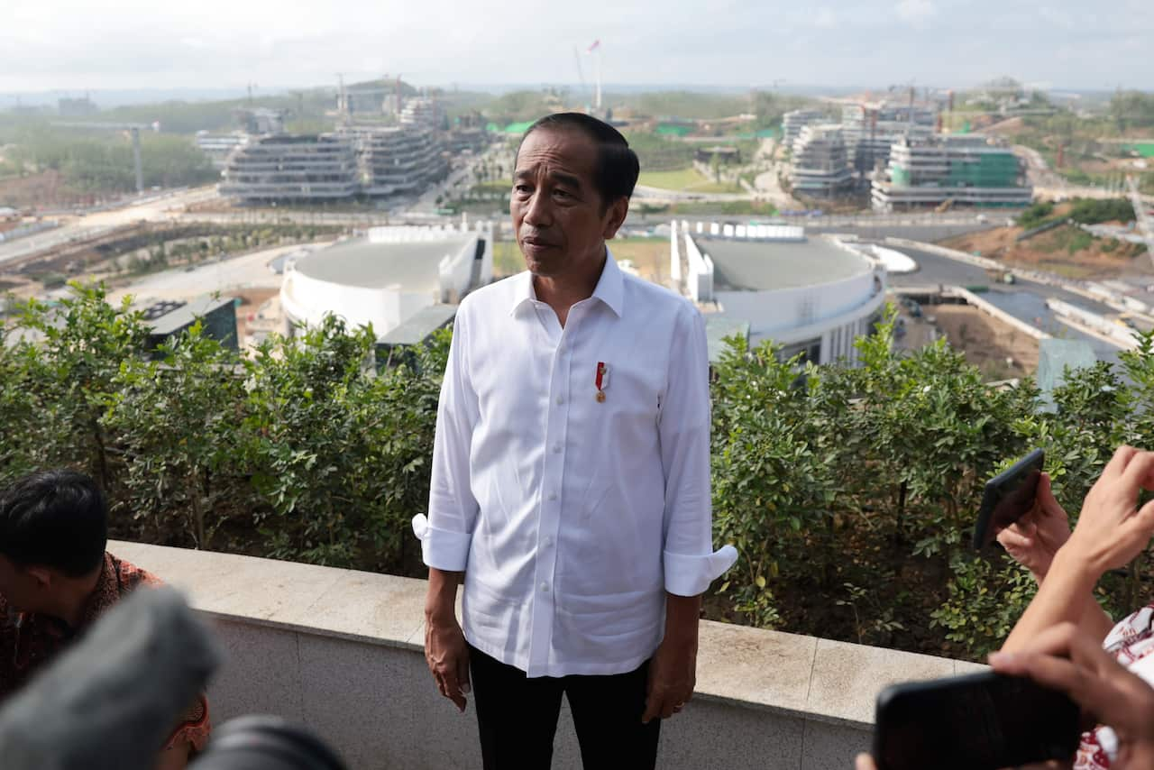
M 75 606 L 99 577 L 107 518 L 104 493 L 76 471 L 31 473 L 0 493 L 0 595 L 9 607 L 59 615 Z

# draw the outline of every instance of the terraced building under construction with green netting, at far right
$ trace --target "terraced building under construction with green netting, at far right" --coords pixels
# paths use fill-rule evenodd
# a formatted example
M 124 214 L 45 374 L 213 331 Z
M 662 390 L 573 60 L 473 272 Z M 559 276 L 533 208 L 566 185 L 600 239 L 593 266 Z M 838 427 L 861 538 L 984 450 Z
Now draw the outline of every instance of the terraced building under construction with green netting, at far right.
M 977 134 L 901 139 L 890 149 L 885 171 L 874 179 L 878 211 L 929 207 L 1029 205 L 1033 188 L 1009 147 Z

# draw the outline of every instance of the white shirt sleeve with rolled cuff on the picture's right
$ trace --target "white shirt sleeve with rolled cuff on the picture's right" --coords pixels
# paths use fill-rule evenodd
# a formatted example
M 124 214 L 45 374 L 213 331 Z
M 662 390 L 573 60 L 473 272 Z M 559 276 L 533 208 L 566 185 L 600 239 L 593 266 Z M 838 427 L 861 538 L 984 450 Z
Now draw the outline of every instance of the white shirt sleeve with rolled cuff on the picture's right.
M 737 560 L 713 551 L 710 494 L 710 379 L 705 322 L 685 305 L 677 315 L 658 424 L 665 472 L 665 590 L 697 596 Z

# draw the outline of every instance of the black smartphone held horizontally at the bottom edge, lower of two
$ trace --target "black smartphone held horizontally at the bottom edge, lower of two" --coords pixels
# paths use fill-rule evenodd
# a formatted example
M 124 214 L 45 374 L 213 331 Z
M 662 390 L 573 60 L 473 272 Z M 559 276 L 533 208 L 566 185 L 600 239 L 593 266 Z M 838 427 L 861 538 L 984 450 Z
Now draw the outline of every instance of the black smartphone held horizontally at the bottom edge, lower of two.
M 1078 704 L 1029 679 L 994 672 L 887 687 L 877 696 L 878 770 L 998 770 L 1067 761 Z

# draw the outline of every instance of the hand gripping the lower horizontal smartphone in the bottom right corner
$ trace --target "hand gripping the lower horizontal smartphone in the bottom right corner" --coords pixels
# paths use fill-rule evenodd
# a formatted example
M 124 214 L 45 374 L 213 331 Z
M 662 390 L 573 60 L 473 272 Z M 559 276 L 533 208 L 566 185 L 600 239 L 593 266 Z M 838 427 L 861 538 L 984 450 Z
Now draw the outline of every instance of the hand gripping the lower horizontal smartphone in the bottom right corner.
M 990 666 L 1063 690 L 1118 737 L 1115 770 L 1154 767 L 1154 688 L 1071 623 L 1048 628 L 1028 649 L 994 653 Z

